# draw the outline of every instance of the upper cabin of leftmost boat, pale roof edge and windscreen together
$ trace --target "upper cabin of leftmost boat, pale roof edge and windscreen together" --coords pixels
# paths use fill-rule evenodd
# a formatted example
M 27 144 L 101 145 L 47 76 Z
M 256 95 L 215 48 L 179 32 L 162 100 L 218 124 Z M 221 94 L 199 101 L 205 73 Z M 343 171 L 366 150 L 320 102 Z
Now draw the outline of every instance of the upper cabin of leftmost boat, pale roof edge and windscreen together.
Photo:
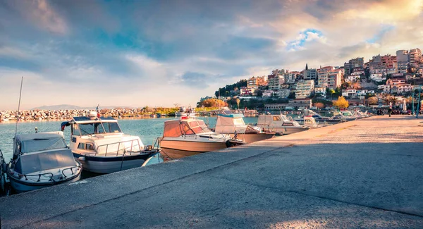
M 66 148 L 63 132 L 23 134 L 16 135 L 16 150 L 14 154 Z

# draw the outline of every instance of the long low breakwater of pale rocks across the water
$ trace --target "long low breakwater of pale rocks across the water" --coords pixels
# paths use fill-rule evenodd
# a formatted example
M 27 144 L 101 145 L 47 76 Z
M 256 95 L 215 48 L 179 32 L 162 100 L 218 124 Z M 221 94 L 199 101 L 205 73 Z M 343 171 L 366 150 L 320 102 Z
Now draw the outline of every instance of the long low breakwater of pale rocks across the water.
M 87 116 L 94 110 L 30 110 L 30 111 L 0 111 L 0 122 L 16 121 L 39 121 L 39 120 L 68 120 L 75 116 Z M 102 109 L 101 116 L 114 118 L 149 118 L 156 117 L 153 112 L 146 112 L 145 109 Z M 162 114 L 166 116 L 166 114 Z

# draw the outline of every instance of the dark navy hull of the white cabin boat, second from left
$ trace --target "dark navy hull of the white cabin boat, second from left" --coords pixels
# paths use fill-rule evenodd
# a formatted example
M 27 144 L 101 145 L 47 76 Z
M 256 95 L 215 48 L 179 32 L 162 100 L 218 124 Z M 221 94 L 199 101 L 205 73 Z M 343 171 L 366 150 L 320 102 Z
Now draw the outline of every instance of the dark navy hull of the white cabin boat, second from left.
M 154 151 L 155 153 L 156 151 Z M 153 154 L 153 153 L 152 153 Z M 114 173 L 130 168 L 141 167 L 152 154 L 129 156 L 88 156 L 73 153 L 75 159 L 82 163 L 82 168 L 91 173 Z

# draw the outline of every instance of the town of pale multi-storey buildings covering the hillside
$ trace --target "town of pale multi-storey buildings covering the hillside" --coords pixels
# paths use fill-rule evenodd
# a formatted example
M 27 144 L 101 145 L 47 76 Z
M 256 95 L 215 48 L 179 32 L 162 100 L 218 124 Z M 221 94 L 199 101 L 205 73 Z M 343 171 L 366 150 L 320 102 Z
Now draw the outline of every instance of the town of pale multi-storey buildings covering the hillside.
M 230 105 L 234 97 L 245 101 L 241 106 L 258 100 L 266 110 L 310 108 L 316 102 L 331 106 L 331 101 L 341 96 L 350 106 L 392 106 L 387 97 L 393 97 L 391 100 L 398 104 L 411 102 L 410 97 L 423 85 L 422 75 L 422 51 L 398 50 L 396 56 L 378 54 L 369 61 L 357 57 L 345 61 L 343 66 L 311 68 L 306 63 L 301 71 L 275 69 L 269 75 L 241 80 L 237 83 L 241 87 L 220 88 L 215 96 Z

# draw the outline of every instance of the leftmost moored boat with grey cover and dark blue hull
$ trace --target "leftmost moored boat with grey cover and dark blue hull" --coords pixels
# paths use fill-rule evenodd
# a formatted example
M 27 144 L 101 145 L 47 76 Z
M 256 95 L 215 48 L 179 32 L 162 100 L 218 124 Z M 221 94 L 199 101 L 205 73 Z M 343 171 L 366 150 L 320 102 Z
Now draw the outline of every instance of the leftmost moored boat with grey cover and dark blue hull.
M 73 158 L 63 132 L 16 135 L 13 148 L 13 159 L 6 173 L 16 192 L 80 179 L 81 163 Z

